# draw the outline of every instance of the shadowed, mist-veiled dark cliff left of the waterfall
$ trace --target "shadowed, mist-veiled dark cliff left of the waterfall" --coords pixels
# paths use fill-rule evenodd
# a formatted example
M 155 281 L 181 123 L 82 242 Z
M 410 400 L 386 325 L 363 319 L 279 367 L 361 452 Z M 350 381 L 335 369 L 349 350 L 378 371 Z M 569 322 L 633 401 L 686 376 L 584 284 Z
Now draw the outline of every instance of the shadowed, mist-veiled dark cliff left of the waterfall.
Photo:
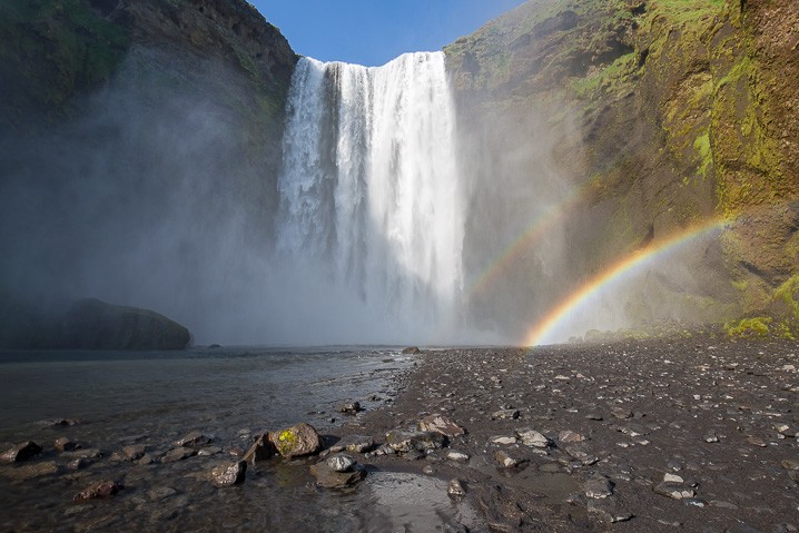
M 277 203 L 280 32 L 243 0 L 8 0 L 0 33 L 0 292 L 198 329 L 234 306 Z

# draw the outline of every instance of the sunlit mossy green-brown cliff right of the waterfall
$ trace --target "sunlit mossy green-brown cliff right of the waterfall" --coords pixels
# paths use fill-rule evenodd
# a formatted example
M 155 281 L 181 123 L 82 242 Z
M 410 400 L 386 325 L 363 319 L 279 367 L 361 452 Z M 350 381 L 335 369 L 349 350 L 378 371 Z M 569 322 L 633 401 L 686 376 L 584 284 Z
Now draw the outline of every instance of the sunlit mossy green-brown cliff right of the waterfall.
M 796 307 L 798 16 L 790 0 L 540 0 L 447 47 L 474 213 L 560 215 L 499 239 L 530 237 L 481 303 L 526 292 L 529 324 L 620 258 L 724 220 L 628 287 L 627 323 Z M 467 249 L 506 221 L 475 224 Z

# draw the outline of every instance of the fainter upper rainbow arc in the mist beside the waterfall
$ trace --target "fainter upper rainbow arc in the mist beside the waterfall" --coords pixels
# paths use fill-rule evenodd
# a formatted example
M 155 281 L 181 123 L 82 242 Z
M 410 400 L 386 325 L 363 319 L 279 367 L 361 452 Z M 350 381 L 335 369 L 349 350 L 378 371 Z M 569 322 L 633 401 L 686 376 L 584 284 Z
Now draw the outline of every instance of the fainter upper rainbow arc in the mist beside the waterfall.
M 553 205 L 527 226 L 513 243 L 511 243 L 472 283 L 467 294 L 473 296 L 485 290 L 500 275 L 509 268 L 519 257 L 575 207 L 583 197 L 583 189 L 573 189 L 561 201 Z

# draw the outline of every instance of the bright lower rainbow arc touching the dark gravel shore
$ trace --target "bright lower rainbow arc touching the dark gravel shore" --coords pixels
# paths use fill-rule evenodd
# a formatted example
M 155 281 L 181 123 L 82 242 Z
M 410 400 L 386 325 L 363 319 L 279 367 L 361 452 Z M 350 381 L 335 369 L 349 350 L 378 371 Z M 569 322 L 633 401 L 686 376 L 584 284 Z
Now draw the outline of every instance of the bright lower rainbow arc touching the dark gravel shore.
M 535 326 L 533 326 L 533 328 L 527 333 L 524 345 L 536 346 L 545 344 L 548 337 L 562 325 L 572 312 L 578 309 L 586 299 L 600 293 L 609 284 L 615 282 L 621 276 L 630 273 L 637 267 L 667 255 L 680 245 L 683 245 L 702 235 L 712 233 L 716 229 L 722 228 L 729 223 L 730 220 L 726 218 L 706 220 L 672 235 L 669 238 L 652 243 L 649 246 L 622 258 L 618 263 L 611 265 L 585 282 L 576 290 L 571 293 L 566 298 L 552 308 L 546 316 L 535 324 Z

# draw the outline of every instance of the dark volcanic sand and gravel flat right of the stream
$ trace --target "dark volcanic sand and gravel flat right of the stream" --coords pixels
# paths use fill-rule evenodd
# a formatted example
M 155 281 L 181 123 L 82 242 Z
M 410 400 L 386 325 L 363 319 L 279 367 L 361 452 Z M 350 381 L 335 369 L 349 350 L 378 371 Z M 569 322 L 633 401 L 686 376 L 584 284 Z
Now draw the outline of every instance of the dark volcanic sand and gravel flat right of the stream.
M 426 351 L 400 377 L 394 405 L 336 433 L 384 442 L 387 431 L 414 426 L 428 413 L 462 425 L 467 434 L 448 450 L 471 455 L 466 464 L 445 460 L 448 450 L 416 460 L 358 458 L 385 470 L 431 466 L 435 476 L 464 481 L 492 531 L 797 531 L 797 472 L 782 462 L 799 460 L 798 348 L 706 335 Z M 503 408 L 517 409 L 519 418 L 492 416 Z M 522 428 L 543 433 L 552 446 L 491 443 Z M 559 440 L 563 431 L 588 438 L 566 444 Z M 500 450 L 522 465 L 499 466 Z M 670 488 L 696 496 L 657 493 L 665 474 L 682 478 Z M 588 497 L 592 483 L 600 491 L 610 484 L 612 495 Z

